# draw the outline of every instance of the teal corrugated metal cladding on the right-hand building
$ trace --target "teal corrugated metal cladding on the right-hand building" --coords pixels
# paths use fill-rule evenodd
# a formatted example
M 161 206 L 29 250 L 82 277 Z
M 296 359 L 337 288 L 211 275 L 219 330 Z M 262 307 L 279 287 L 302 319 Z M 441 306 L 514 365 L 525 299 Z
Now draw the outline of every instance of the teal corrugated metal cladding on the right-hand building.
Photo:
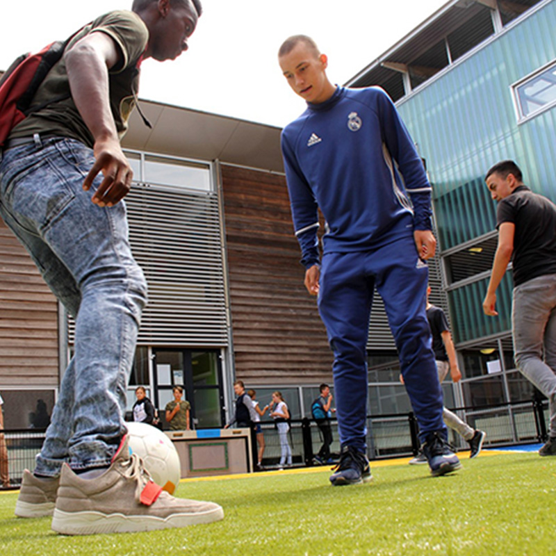
M 541 3 L 398 102 L 427 160 L 441 252 L 495 228 L 484 174 L 500 160 L 514 159 L 525 183 L 556 202 L 556 108 L 518 124 L 511 87 L 556 61 L 555 30 L 556 0 Z M 498 318 L 482 313 L 486 284 L 450 292 L 458 342 L 511 329 L 510 277 L 498 292 Z

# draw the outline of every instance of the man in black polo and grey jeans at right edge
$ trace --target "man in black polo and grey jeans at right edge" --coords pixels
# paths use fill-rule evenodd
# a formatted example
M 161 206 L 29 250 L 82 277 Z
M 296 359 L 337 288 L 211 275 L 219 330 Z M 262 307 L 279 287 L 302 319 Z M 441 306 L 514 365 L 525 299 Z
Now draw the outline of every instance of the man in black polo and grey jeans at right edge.
M 498 247 L 482 306 L 486 315 L 498 315 L 496 288 L 513 255 L 516 365 L 550 402 L 550 437 L 539 455 L 556 456 L 556 205 L 522 180 L 513 161 L 502 161 L 486 174 L 498 202 Z

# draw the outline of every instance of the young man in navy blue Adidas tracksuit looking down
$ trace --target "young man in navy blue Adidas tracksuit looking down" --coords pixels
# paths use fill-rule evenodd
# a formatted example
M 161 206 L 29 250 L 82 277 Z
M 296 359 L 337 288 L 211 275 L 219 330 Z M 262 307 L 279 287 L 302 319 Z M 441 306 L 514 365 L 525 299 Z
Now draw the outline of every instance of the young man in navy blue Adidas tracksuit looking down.
M 377 287 L 400 355 L 407 393 L 433 475 L 461 465 L 442 420 L 442 391 L 425 313 L 431 231 L 430 183 L 384 90 L 336 87 L 327 57 L 305 35 L 282 44 L 279 64 L 306 111 L 282 132 L 305 286 L 334 352 L 341 460 L 332 484 L 370 480 L 366 457 L 366 342 Z M 407 194 L 411 197 L 411 203 Z M 318 208 L 327 222 L 322 263 Z

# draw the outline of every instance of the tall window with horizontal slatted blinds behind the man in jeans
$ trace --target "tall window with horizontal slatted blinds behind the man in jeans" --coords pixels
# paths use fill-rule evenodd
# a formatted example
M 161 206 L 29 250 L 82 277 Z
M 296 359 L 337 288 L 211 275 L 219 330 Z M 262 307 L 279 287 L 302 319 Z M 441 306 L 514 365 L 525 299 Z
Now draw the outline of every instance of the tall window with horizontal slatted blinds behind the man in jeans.
M 138 344 L 228 345 L 220 203 L 211 166 L 126 155 L 136 180 L 125 199 L 129 240 L 149 285 Z M 73 337 L 70 322 L 70 343 Z

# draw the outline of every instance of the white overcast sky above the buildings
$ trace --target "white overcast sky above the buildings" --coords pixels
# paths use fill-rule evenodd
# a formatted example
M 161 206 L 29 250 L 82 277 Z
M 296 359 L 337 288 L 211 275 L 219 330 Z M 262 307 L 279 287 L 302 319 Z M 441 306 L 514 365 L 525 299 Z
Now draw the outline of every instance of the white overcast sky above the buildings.
M 304 110 L 277 63 L 285 38 L 303 33 L 345 83 L 445 4 L 445 0 L 202 0 L 204 13 L 175 61 L 142 65 L 139 96 L 284 126 Z M 25 51 L 63 40 L 131 0 L 3 0 L 0 69 Z M 22 17 L 24 12 L 25 17 Z M 9 23 L 8 23 L 9 22 Z

